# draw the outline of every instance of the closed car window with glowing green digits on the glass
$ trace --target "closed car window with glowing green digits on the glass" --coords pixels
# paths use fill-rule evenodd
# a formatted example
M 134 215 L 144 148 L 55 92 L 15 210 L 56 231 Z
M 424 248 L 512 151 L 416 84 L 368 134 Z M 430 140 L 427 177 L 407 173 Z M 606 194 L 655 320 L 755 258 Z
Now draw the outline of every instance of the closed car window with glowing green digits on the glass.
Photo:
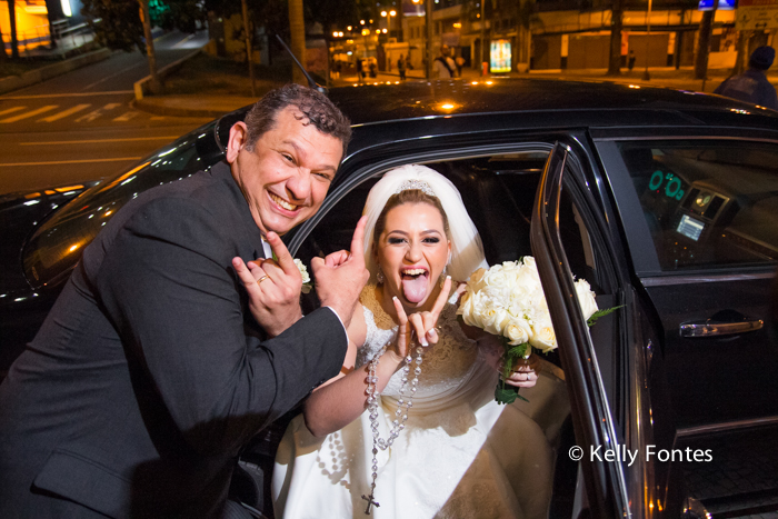
M 664 271 L 776 262 L 778 147 L 678 140 L 618 149 Z

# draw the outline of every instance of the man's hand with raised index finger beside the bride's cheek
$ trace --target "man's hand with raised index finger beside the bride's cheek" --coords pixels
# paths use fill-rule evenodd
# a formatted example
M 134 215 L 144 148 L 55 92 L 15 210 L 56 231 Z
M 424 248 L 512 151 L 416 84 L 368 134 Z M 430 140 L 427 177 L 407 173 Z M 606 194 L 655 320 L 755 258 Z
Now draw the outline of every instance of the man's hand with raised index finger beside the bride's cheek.
M 370 278 L 365 268 L 365 224 L 367 217 L 359 219 L 351 240 L 351 252 L 340 250 L 327 258 L 313 258 L 311 268 L 316 278 L 316 292 L 321 305 L 335 310 L 346 328 L 351 322 L 359 295 Z

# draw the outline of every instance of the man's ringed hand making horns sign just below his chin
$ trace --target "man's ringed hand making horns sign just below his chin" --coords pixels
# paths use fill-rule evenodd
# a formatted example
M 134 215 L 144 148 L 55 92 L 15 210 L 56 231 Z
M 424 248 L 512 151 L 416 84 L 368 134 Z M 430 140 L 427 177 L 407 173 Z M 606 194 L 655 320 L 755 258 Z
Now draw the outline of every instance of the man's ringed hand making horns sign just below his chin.
M 258 259 L 247 266 L 233 258 L 232 267 L 246 286 L 251 315 L 270 337 L 276 337 L 302 317 L 302 277 L 281 238 L 268 232 L 266 239 L 278 261 Z

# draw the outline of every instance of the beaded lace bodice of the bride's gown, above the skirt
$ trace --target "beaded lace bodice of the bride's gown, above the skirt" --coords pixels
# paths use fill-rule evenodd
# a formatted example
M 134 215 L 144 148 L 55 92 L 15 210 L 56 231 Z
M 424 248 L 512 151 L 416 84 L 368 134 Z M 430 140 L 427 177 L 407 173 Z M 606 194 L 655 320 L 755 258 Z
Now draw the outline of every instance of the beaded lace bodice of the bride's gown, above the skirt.
M 357 353 L 357 367 L 369 362 L 381 348 L 393 342 L 398 327 L 383 311 L 376 298 L 376 286 L 368 285 L 360 296 L 367 323 L 365 345 Z M 457 307 L 450 301 L 438 319 L 440 340 L 425 351 L 422 373 L 419 377 L 417 397 L 436 397 L 450 392 L 467 380 L 476 365 L 478 348 L 468 339 L 457 321 Z M 398 396 L 401 372 L 396 372 L 382 396 Z

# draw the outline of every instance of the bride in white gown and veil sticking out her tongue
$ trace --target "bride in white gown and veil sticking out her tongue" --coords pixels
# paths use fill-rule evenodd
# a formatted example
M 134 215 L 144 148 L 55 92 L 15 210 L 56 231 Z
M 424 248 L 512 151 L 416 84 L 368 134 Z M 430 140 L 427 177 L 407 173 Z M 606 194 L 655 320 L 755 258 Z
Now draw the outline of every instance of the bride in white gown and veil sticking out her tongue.
M 341 373 L 281 440 L 276 517 L 546 517 L 548 442 L 525 413 L 495 402 L 493 338 L 457 321 L 451 278 L 486 267 L 459 192 L 405 166 L 371 189 L 365 214 L 370 282 Z M 508 383 L 537 378 L 523 367 Z

